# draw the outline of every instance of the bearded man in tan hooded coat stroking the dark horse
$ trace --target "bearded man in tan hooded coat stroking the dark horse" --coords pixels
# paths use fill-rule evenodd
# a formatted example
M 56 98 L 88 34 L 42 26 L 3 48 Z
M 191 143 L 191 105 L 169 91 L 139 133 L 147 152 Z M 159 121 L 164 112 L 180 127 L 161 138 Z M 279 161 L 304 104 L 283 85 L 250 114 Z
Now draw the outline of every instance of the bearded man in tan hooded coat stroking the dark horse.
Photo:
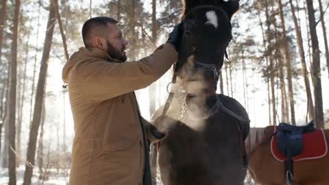
M 66 62 L 75 138 L 71 185 L 151 184 L 145 124 L 134 90 L 149 86 L 178 60 L 181 24 L 151 56 L 125 62 L 127 41 L 117 21 L 90 18 L 82 27 L 85 47 Z M 143 123 L 142 123 L 143 122 Z M 162 138 L 158 136 L 150 140 Z

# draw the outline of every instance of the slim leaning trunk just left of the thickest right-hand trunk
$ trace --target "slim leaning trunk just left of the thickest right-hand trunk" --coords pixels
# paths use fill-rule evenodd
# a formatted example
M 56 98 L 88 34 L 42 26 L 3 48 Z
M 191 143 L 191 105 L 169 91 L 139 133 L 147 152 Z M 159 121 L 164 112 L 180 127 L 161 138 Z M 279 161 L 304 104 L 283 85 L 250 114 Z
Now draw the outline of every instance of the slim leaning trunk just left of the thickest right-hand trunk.
M 295 32 L 297 36 L 297 44 L 298 44 L 298 53 L 300 53 L 300 61 L 302 62 L 302 71 L 304 76 L 304 83 L 306 88 L 306 96 L 307 96 L 307 107 L 308 107 L 308 119 L 314 118 L 314 106 L 313 106 L 313 98 L 312 93 L 310 92 L 310 82 L 308 80 L 308 71 L 306 66 L 305 60 L 305 53 L 304 53 L 304 45 L 303 45 L 303 38 L 302 32 L 300 31 L 300 25 L 297 23 L 297 17 L 295 14 L 295 7 L 293 5 L 293 1 L 289 0 L 291 6 L 291 15 L 293 16 L 293 24 L 295 25 Z

